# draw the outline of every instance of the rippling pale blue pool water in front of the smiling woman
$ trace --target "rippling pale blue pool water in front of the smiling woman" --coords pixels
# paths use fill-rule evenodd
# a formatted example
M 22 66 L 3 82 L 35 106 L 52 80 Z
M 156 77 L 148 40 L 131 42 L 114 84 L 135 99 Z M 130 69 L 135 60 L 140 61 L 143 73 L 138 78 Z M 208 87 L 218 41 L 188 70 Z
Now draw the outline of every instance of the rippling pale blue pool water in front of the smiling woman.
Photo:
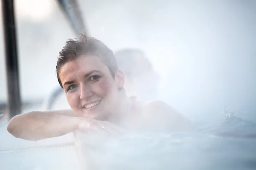
M 256 124 L 225 108 L 193 133 L 86 138 L 86 164 L 97 170 L 254 170 Z M 89 161 L 88 161 L 89 160 Z

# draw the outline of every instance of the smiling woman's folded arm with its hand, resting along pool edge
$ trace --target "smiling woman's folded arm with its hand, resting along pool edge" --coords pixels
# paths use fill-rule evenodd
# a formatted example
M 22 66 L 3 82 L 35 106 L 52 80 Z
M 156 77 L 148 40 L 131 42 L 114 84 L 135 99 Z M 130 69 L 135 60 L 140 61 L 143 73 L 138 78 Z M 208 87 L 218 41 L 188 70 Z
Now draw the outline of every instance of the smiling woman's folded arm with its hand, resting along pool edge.
M 74 130 L 107 134 L 125 132 L 107 121 L 77 117 L 72 110 L 20 114 L 10 120 L 7 130 L 16 138 L 33 141 L 62 136 Z

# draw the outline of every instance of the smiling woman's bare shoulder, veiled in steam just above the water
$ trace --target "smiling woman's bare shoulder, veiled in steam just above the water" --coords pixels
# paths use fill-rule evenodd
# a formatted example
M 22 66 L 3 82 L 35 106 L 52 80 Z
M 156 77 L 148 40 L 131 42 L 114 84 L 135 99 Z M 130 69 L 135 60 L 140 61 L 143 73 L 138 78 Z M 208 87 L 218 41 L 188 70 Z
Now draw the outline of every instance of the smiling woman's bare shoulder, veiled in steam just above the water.
M 160 131 L 189 131 L 194 129 L 192 122 L 169 106 L 167 103 L 156 100 L 143 105 L 142 120 L 149 129 Z

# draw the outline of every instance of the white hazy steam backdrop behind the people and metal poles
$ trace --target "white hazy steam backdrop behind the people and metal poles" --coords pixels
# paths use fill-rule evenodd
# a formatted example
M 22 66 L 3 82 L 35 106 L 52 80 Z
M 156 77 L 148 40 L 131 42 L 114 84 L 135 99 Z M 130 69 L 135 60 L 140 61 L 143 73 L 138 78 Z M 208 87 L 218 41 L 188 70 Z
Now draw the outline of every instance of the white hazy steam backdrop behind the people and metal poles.
M 160 99 L 190 119 L 215 118 L 227 103 L 255 120 L 255 0 L 79 3 L 90 36 L 114 52 L 142 48 L 161 76 Z M 15 8 L 22 100 L 44 99 L 58 86 L 58 52 L 75 35 L 54 0 L 15 0 Z M 0 102 L 6 102 L 0 29 Z

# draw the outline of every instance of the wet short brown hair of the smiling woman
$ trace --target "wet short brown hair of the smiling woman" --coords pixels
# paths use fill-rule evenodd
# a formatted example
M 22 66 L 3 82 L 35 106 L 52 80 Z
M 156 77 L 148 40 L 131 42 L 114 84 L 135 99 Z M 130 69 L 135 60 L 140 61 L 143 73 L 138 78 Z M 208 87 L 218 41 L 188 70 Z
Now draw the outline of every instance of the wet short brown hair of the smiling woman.
M 56 65 L 56 74 L 61 88 L 63 88 L 63 86 L 59 77 L 59 73 L 62 66 L 67 62 L 75 60 L 79 56 L 86 57 L 87 55 L 98 56 L 102 60 L 103 64 L 108 67 L 113 79 L 115 78 L 117 63 L 113 51 L 111 51 L 111 49 L 109 49 L 100 40 L 97 40 L 94 37 L 81 35 L 80 38 L 69 39 L 65 43 L 65 46 L 62 48 L 62 50 L 59 52 Z

